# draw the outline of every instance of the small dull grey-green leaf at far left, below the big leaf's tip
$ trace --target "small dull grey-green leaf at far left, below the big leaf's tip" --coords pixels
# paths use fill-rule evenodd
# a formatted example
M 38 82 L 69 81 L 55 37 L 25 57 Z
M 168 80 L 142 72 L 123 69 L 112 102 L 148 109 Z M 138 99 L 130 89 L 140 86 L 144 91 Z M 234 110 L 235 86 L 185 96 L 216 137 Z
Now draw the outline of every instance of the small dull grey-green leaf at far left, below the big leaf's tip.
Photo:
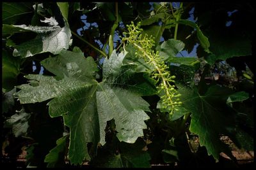
M 15 137 L 19 136 L 26 136 L 26 133 L 28 131 L 28 120 L 29 120 L 30 114 L 26 113 L 24 109 L 17 111 L 15 115 L 12 115 L 12 117 L 8 118 L 4 122 L 4 127 L 10 127 L 12 128 L 12 132 Z

